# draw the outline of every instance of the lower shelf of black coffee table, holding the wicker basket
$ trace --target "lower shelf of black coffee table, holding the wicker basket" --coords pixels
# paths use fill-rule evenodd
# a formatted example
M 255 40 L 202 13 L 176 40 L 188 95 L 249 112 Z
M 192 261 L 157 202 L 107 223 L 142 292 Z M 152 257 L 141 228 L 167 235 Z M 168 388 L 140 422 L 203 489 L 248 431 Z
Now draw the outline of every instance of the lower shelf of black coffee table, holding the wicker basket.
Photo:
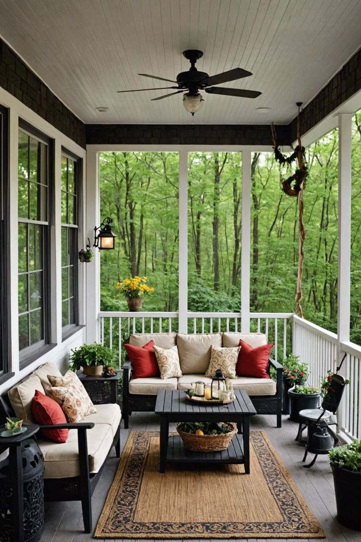
M 243 435 L 236 433 L 226 450 L 206 453 L 187 450 L 179 435 L 169 436 L 166 461 L 169 463 L 244 463 Z

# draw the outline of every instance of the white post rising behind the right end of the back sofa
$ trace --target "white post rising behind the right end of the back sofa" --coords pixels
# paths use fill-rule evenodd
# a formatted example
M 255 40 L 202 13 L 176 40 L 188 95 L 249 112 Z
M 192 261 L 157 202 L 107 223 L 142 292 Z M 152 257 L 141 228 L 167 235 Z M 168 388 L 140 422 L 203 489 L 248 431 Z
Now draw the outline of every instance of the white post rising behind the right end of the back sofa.
M 250 331 L 251 151 L 242 151 L 241 332 Z

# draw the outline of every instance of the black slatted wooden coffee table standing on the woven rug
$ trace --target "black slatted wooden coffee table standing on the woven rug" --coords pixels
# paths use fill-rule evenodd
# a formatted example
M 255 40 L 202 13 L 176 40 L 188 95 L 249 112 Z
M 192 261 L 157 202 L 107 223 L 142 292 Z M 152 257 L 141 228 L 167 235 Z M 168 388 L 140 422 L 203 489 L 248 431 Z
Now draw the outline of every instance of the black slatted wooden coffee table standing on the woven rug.
M 244 390 L 235 391 L 233 403 L 199 404 L 186 399 L 180 390 L 160 390 L 155 403 L 160 416 L 160 472 L 166 462 L 173 463 L 244 463 L 250 474 L 250 416 L 257 414 Z M 169 436 L 169 422 L 235 422 L 238 426 L 227 450 L 213 453 L 189 451 L 179 435 Z

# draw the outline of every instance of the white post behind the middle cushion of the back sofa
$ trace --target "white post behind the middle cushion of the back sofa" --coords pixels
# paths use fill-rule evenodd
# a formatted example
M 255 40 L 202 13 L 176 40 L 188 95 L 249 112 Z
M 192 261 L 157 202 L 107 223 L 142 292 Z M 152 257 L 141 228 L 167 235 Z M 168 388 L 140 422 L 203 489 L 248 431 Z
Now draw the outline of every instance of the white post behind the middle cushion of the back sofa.
M 179 152 L 179 320 L 178 331 L 187 333 L 188 321 L 188 152 Z

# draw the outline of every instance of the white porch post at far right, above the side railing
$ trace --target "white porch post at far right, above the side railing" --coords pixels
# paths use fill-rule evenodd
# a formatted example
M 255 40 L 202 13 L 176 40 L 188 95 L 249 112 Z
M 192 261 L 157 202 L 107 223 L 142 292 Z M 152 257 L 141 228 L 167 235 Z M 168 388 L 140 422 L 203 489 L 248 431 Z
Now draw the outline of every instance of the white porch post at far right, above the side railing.
M 350 340 L 351 284 L 351 119 L 350 113 L 338 115 L 338 292 L 337 292 L 337 364 L 342 360 L 342 341 Z M 330 360 L 332 362 L 332 360 Z M 344 373 L 346 364 L 341 373 Z M 342 423 L 342 403 L 338 418 Z

